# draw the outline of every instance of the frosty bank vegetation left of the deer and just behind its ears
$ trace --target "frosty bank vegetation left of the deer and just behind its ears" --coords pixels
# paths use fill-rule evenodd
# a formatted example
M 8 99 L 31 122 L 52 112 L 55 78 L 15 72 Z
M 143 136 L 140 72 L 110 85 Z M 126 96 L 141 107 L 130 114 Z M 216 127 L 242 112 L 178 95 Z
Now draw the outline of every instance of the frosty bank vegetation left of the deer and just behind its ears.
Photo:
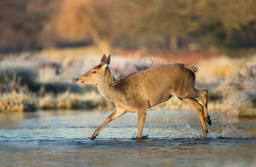
M 102 96 L 94 86 L 79 86 L 75 78 L 97 65 L 100 58 L 87 55 L 52 61 L 31 53 L 4 57 L 0 62 L 0 111 L 95 109 L 96 101 Z M 134 64 L 131 62 L 116 57 L 113 72 L 121 76 L 123 72 L 118 69 L 131 68 Z

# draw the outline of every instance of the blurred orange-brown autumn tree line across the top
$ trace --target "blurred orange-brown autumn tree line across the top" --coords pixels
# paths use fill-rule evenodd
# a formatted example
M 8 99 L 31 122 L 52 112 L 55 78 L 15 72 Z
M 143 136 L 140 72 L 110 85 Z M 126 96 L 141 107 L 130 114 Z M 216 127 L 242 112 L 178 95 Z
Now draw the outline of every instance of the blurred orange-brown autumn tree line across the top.
M 255 0 L 0 0 L 0 52 L 255 47 Z

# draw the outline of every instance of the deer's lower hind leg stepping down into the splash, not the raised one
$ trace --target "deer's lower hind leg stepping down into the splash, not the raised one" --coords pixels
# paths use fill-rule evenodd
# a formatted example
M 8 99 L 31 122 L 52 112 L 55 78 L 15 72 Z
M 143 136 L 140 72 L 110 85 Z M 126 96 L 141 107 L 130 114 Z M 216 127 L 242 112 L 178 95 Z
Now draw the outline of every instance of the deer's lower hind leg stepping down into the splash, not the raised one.
M 194 109 L 197 112 L 197 114 L 199 116 L 199 119 L 201 121 L 201 126 L 202 126 L 202 129 L 203 129 L 203 133 L 207 134 L 208 130 L 207 130 L 207 127 L 205 125 L 205 119 L 203 117 L 203 107 L 202 107 L 202 105 L 196 99 L 181 99 L 181 100 L 186 102 L 186 104 L 188 106 L 190 106 L 192 109 Z

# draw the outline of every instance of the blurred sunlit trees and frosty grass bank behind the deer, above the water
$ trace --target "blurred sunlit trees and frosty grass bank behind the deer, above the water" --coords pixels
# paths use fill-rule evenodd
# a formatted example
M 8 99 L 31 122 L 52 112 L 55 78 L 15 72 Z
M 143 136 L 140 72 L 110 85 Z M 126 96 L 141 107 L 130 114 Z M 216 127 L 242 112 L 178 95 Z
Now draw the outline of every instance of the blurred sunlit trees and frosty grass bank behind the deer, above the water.
M 148 52 L 194 64 L 209 109 L 255 116 L 255 1 L 0 1 L 0 111 L 95 109 L 75 78 L 112 55 L 125 76 Z M 156 107 L 189 109 L 172 100 Z

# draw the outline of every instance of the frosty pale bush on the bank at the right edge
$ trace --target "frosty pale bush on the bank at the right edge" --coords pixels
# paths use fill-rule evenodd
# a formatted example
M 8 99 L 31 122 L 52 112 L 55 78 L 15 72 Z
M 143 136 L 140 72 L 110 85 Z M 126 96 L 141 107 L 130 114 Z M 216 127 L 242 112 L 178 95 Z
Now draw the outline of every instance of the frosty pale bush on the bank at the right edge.
M 221 85 L 227 115 L 256 116 L 256 65 L 253 63 L 244 65 Z

